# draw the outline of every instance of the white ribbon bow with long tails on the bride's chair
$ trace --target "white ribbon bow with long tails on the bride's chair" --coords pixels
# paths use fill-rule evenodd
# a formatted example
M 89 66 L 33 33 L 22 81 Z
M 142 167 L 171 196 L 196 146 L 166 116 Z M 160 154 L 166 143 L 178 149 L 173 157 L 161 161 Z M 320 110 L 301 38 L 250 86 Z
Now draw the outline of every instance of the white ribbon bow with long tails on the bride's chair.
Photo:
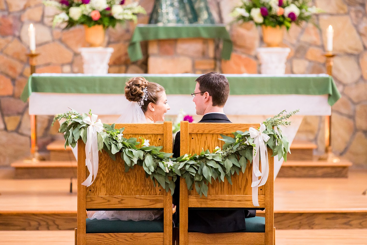
M 88 124 L 87 128 L 87 142 L 86 142 L 86 166 L 89 171 L 88 178 L 81 183 L 82 185 L 90 186 L 98 172 L 98 140 L 97 132 L 100 133 L 103 130 L 103 124 L 101 119 L 97 121 L 97 115 L 92 114 L 91 117 L 86 117 L 83 122 Z M 93 177 L 93 179 L 92 179 Z

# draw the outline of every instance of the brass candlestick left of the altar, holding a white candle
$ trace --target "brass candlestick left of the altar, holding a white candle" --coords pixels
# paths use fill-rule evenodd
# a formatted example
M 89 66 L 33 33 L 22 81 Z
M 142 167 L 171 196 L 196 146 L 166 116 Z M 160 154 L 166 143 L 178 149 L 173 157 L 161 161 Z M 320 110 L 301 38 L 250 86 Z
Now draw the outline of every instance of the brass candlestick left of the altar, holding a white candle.
M 29 57 L 29 65 L 30 65 L 30 74 L 36 73 L 36 65 L 37 65 L 37 54 L 35 51 L 31 51 L 27 54 Z M 37 121 L 36 115 L 30 116 L 30 159 L 26 159 L 25 161 L 37 162 L 39 160 L 45 160 L 38 153 L 37 147 Z

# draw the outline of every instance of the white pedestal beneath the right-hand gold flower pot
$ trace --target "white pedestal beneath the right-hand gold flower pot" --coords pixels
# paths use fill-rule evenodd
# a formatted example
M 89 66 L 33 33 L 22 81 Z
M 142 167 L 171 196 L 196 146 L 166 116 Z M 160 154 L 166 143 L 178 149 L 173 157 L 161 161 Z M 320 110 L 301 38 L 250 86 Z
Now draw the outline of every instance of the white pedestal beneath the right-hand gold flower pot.
M 261 63 L 261 74 L 282 75 L 286 72 L 286 61 L 290 48 L 261 47 L 257 49 Z

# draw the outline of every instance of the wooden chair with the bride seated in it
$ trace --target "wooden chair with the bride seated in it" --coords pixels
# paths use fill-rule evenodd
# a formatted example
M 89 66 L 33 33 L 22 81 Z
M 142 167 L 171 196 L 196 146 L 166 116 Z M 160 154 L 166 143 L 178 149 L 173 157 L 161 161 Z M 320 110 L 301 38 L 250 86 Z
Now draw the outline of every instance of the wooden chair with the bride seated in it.
M 123 128 L 125 138 L 149 139 L 150 145 L 163 146 L 162 151 L 172 152 L 172 123 L 163 124 L 116 124 Z M 108 153 L 99 153 L 99 168 L 96 180 L 89 187 L 81 185 L 89 173 L 85 166 L 85 144 L 78 142 L 78 203 L 76 244 L 172 244 L 172 196 L 163 188 L 153 186 L 153 181 L 146 178 L 141 166 L 135 166 L 124 172 L 124 162 L 120 153 L 116 161 Z M 136 233 L 86 233 L 86 210 L 107 209 L 144 209 L 163 208 L 163 232 Z M 95 221 L 95 220 L 93 220 Z M 97 220 L 114 222 L 115 220 Z M 128 221 L 117 221 L 119 226 Z M 135 221 L 130 221 L 130 224 Z M 141 221 L 137 221 L 137 224 Z M 143 221 L 152 222 L 152 221 Z M 111 224 L 111 223 L 110 223 Z M 161 224 L 161 223 L 160 223 Z M 103 225 L 102 225 L 103 226 Z M 116 227 L 114 227 L 116 228 Z M 118 228 L 118 227 L 117 227 Z

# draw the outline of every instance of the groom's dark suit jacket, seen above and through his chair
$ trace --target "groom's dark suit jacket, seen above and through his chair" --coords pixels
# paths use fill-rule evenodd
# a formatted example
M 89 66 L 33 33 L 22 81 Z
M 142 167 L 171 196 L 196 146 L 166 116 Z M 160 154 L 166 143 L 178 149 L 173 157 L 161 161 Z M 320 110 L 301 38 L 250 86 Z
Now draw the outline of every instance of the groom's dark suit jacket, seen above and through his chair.
M 225 114 L 210 113 L 203 116 L 199 123 L 231 123 Z M 180 132 L 177 132 L 173 147 L 173 157 L 180 156 Z M 179 179 L 175 182 L 173 202 L 179 210 Z M 177 216 L 179 212 L 177 212 Z M 246 229 L 245 217 L 255 217 L 256 210 L 193 210 L 189 209 L 189 231 L 216 233 L 234 232 Z M 178 217 L 177 217 L 178 219 Z

